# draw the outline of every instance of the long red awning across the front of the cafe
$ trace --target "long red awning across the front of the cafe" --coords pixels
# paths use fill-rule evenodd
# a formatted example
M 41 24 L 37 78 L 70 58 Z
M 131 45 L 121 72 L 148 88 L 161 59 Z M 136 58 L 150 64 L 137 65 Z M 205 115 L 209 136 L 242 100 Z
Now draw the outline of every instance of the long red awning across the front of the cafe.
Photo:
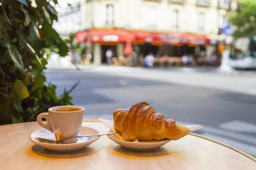
M 81 31 L 76 34 L 77 42 L 85 42 L 87 32 Z M 209 39 L 203 35 L 196 34 L 166 34 L 146 31 L 129 31 L 129 30 L 90 30 L 90 42 L 126 42 L 131 40 L 134 44 L 144 44 L 145 42 L 152 45 L 208 45 Z

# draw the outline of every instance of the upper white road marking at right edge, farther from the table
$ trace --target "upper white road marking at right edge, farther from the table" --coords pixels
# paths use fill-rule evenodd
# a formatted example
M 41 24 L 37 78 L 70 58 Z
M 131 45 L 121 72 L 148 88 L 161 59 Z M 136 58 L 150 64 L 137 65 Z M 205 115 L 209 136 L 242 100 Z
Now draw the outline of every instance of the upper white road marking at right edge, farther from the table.
M 241 120 L 233 120 L 219 125 L 219 127 L 237 132 L 256 133 L 256 125 Z

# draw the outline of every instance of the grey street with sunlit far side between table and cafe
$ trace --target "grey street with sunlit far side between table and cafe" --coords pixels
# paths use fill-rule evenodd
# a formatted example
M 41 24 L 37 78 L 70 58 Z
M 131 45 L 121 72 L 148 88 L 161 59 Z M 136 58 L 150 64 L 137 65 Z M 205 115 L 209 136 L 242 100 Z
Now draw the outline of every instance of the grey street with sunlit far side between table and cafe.
M 57 93 L 69 89 L 84 119 L 113 119 L 113 111 L 148 102 L 166 119 L 203 127 L 195 133 L 256 156 L 256 73 L 98 66 L 84 71 L 46 71 Z

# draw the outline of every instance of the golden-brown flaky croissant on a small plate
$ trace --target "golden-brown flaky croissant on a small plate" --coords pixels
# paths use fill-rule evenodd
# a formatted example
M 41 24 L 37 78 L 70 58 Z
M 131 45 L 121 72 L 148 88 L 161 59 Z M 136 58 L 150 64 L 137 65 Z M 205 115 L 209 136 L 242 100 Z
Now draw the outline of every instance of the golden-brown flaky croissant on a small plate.
M 122 133 L 125 141 L 135 140 L 178 140 L 190 133 L 188 127 L 174 119 L 156 113 L 146 102 L 139 102 L 127 109 L 117 109 L 113 113 L 114 127 Z

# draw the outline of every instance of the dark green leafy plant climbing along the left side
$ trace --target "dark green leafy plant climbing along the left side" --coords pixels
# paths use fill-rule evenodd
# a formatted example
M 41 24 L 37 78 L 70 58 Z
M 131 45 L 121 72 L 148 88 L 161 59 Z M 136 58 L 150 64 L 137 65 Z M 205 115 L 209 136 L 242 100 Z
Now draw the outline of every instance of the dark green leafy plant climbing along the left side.
M 52 0 L 55 4 L 57 0 Z M 69 91 L 57 96 L 44 76 L 47 56 L 68 47 L 52 28 L 57 12 L 47 0 L 0 0 L 0 125 L 35 121 L 56 105 L 73 105 Z

